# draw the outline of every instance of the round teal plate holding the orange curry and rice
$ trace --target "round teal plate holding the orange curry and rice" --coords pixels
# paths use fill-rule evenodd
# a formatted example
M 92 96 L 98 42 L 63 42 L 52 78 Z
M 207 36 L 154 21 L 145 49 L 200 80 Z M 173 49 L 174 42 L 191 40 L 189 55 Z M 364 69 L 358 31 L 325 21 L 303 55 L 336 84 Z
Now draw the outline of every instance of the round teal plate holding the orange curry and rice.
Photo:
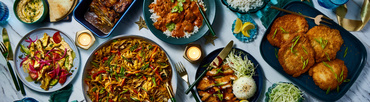
M 144 19 L 145 22 L 147 23 L 147 26 L 149 30 L 156 36 L 158 39 L 161 39 L 162 41 L 169 43 L 169 44 L 175 44 L 175 45 L 184 45 L 184 44 L 189 44 L 193 43 L 194 41 L 197 41 L 201 39 L 205 34 L 208 34 L 208 27 L 203 19 L 203 24 L 199 28 L 199 31 L 196 32 L 195 34 L 191 35 L 189 38 L 181 37 L 181 38 L 175 38 L 175 37 L 168 37 L 161 30 L 158 30 L 154 27 L 153 21 L 150 18 L 152 13 L 149 11 L 149 4 L 151 4 L 154 0 L 144 0 Z M 205 15 L 208 18 L 209 22 L 212 24 L 213 20 L 215 19 L 215 12 L 216 12 L 216 5 L 215 5 L 215 0 L 203 0 L 205 8 L 207 10 L 205 11 Z

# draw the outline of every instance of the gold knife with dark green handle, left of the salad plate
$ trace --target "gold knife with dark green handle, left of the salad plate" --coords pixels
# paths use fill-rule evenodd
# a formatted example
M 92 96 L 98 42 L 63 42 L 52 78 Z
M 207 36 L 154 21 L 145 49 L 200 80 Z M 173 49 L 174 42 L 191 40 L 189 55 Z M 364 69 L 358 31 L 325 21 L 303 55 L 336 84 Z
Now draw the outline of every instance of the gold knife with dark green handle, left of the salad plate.
M 9 69 L 11 78 L 13 78 L 14 85 L 16 85 L 17 90 L 19 89 L 21 90 L 22 94 L 26 94 L 24 92 L 22 81 L 19 79 L 19 77 L 16 78 L 16 76 L 14 75 L 13 67 L 11 67 L 9 63 L 9 60 L 13 61 L 13 50 L 11 49 L 10 40 L 9 40 L 8 32 L 6 31 L 6 28 L 3 28 L 3 41 L 4 41 L 5 47 L 8 49 L 8 54 L 7 55 L 4 54 L 4 57 L 7 59 L 6 61 L 8 64 L 8 69 Z M 17 79 L 18 79 L 18 82 L 17 82 Z

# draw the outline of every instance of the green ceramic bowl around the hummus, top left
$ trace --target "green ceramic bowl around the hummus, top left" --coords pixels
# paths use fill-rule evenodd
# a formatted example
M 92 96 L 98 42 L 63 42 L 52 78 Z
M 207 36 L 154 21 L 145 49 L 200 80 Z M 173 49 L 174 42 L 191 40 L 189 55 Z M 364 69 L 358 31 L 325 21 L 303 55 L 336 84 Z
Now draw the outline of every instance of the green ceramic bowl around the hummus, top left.
M 23 22 L 19 17 L 18 17 L 18 14 L 17 14 L 17 6 L 18 6 L 18 3 L 19 3 L 20 0 L 16 0 L 14 1 L 14 5 L 13 5 L 13 11 L 14 11 L 14 15 L 16 15 L 17 19 L 19 21 L 21 21 L 22 23 L 26 23 L 26 24 L 33 24 L 33 23 L 40 23 L 42 21 L 44 21 L 44 19 L 46 18 L 46 15 L 48 14 L 48 6 L 47 6 L 47 3 L 45 0 L 41 0 L 43 2 L 43 5 L 44 5 L 44 12 L 43 14 L 41 15 L 41 17 L 39 19 L 37 19 L 36 21 L 32 22 L 32 23 L 27 23 L 27 22 Z

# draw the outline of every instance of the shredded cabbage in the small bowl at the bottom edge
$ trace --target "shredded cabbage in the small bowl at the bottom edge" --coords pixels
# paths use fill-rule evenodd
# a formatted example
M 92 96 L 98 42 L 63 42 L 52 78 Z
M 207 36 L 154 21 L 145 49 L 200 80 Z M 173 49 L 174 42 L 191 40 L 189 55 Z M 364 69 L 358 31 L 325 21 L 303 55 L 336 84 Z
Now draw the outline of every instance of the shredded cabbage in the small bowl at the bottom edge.
M 290 83 L 276 83 L 276 87 L 271 89 L 269 102 L 298 102 L 303 92 Z M 304 99 L 304 98 L 303 98 Z

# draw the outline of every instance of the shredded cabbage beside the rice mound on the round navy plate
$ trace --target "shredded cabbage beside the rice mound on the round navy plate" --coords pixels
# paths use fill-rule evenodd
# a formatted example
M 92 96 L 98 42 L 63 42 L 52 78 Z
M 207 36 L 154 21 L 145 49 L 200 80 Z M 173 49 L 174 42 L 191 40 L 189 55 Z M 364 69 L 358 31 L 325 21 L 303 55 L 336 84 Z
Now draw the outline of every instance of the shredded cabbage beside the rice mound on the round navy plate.
M 244 58 L 242 58 L 242 54 L 245 55 Z M 254 64 L 252 61 L 248 60 L 246 54 L 241 51 L 232 49 L 223 63 L 228 64 L 231 69 L 235 71 L 235 75 L 238 77 L 252 77 L 255 75 L 254 70 L 256 68 L 254 67 Z

